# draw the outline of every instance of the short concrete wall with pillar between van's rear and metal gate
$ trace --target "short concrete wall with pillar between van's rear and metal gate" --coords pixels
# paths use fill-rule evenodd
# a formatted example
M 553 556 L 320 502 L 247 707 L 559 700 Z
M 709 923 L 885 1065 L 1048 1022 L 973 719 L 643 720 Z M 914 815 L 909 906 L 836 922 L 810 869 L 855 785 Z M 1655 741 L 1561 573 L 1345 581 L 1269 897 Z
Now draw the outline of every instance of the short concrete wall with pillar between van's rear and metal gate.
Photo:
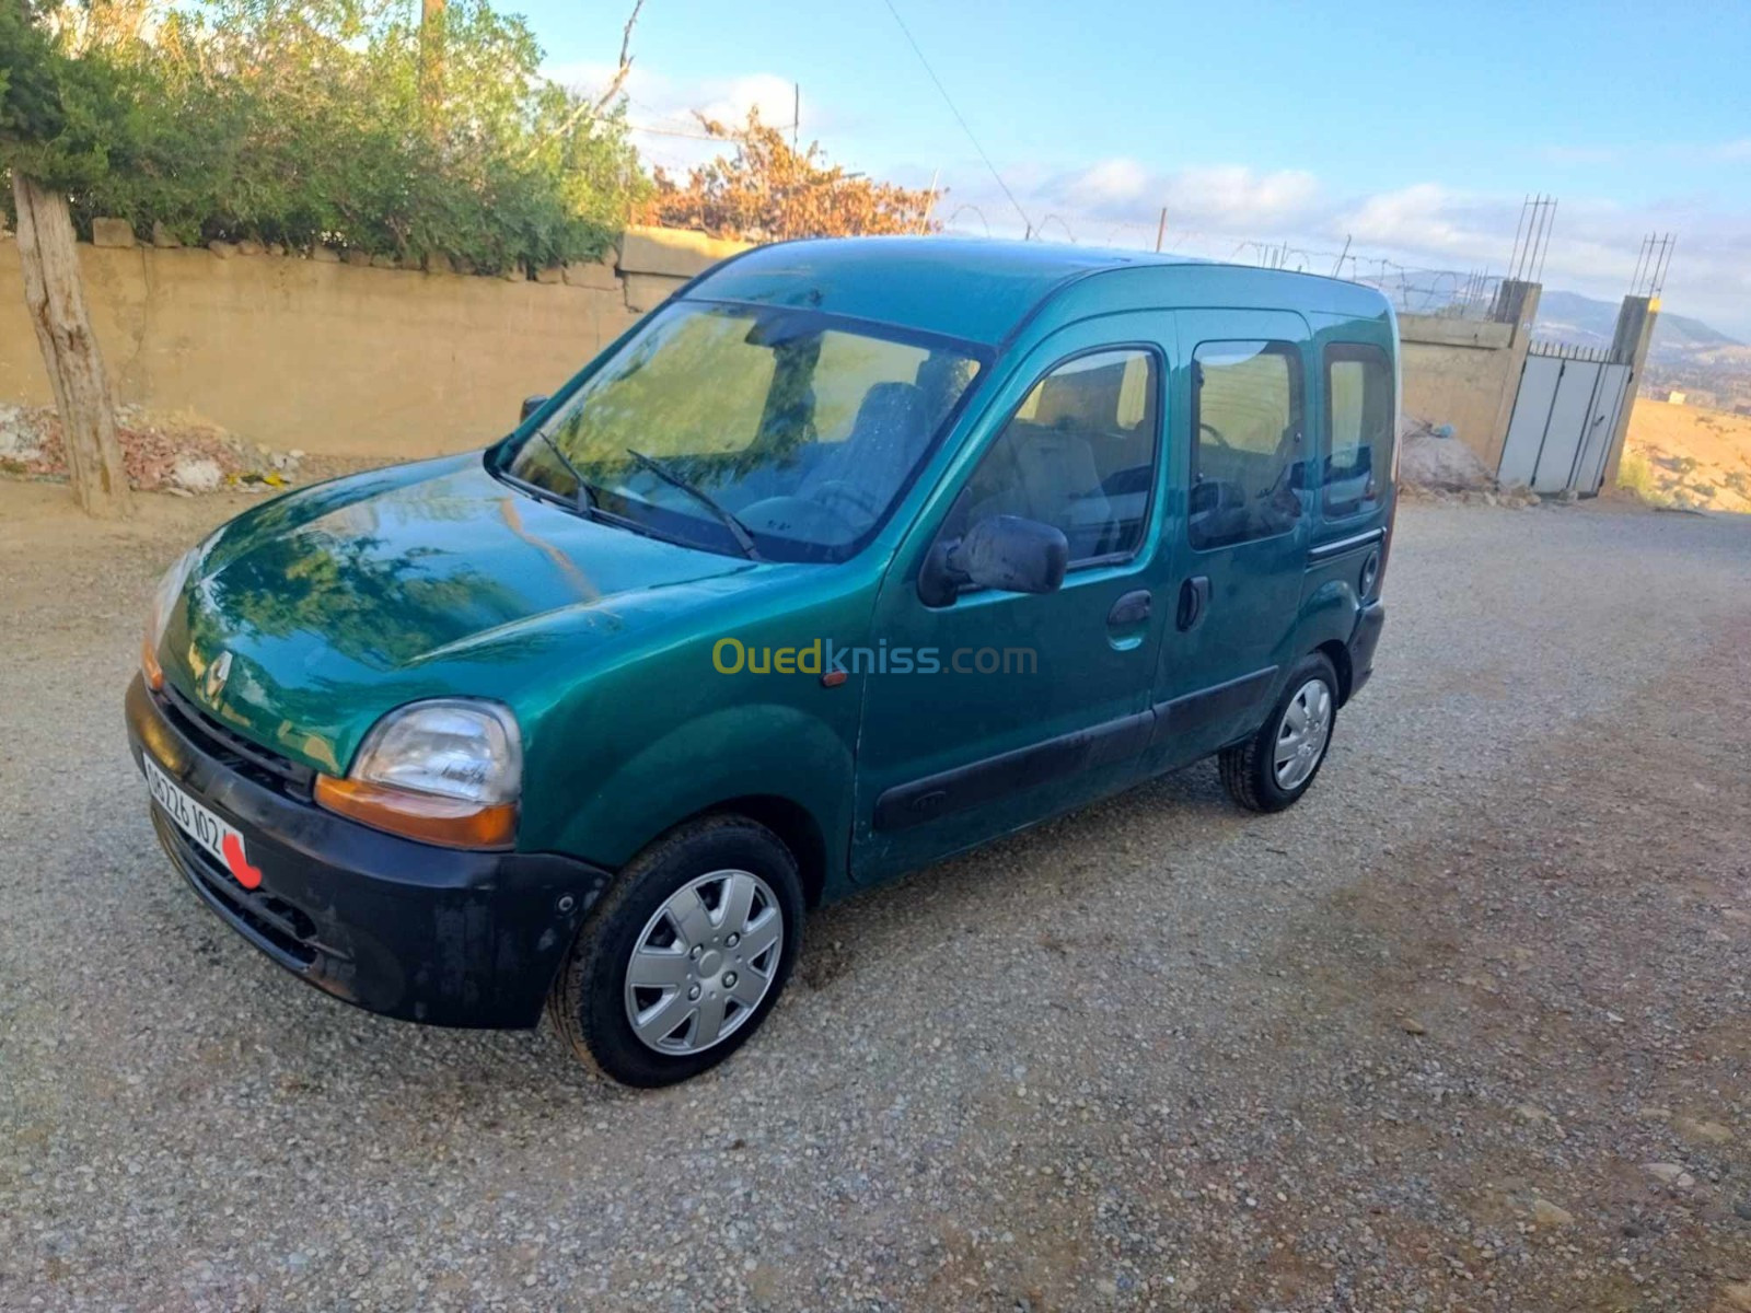
M 1399 315 L 1404 415 L 1452 424 L 1453 436 L 1490 471 L 1501 464 L 1508 439 L 1539 291 L 1536 284 L 1504 282 L 1497 320 Z

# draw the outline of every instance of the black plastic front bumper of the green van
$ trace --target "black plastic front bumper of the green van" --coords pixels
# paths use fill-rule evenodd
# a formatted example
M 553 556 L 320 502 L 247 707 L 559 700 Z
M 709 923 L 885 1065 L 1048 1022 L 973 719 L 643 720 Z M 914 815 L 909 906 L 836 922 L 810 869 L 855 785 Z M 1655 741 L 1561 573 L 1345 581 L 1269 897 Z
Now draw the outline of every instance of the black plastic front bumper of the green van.
M 548 853 L 464 853 L 322 811 L 240 755 L 222 727 L 128 686 L 128 739 L 235 825 L 245 889 L 156 805 L 172 865 L 235 931 L 317 989 L 403 1021 L 524 1028 L 609 874 Z M 245 749 L 247 751 L 247 749 Z

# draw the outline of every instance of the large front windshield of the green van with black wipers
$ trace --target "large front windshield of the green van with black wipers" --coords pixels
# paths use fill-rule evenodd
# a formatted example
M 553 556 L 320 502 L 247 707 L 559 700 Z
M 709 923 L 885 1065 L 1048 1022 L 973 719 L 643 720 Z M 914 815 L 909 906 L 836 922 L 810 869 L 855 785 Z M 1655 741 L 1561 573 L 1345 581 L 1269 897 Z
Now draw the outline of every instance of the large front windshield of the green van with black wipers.
M 975 352 L 812 310 L 679 301 L 501 471 L 716 551 L 844 560 L 911 485 Z

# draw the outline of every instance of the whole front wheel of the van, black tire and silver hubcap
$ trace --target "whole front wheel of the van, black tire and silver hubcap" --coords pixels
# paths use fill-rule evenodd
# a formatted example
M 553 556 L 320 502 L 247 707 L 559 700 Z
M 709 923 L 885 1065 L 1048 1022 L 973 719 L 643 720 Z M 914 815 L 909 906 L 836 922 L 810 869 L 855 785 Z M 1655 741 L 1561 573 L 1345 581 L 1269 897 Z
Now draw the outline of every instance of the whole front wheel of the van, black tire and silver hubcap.
M 580 1057 L 629 1085 L 716 1066 L 765 1021 L 802 942 L 777 835 L 711 816 L 648 847 L 578 931 L 548 1000 Z

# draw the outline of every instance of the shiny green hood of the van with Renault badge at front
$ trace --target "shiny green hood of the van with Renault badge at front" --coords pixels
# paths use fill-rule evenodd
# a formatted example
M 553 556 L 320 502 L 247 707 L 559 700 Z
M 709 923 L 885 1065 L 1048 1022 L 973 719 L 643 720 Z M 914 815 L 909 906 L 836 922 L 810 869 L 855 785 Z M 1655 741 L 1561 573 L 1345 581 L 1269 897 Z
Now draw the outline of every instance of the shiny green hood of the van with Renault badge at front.
M 515 707 L 576 674 L 592 642 L 625 641 L 756 569 L 772 567 L 529 497 L 476 452 L 238 516 L 203 546 L 161 662 L 207 714 L 338 774 L 390 707 L 443 695 Z M 208 678 L 219 653 L 231 655 L 222 686 Z

